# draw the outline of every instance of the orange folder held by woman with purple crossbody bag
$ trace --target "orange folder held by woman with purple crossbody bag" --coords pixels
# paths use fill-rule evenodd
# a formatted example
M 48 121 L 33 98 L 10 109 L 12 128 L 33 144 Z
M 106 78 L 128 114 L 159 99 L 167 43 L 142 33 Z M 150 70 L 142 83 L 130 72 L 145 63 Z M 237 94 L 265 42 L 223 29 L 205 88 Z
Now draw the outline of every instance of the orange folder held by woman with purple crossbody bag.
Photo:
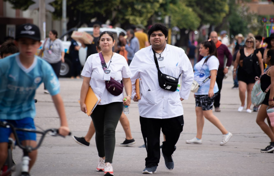
M 86 110 L 87 110 L 87 115 L 90 116 L 95 109 L 95 107 L 100 103 L 100 97 L 93 92 L 92 88 L 89 86 L 88 93 L 86 94 Z M 78 100 L 80 103 L 80 99 Z

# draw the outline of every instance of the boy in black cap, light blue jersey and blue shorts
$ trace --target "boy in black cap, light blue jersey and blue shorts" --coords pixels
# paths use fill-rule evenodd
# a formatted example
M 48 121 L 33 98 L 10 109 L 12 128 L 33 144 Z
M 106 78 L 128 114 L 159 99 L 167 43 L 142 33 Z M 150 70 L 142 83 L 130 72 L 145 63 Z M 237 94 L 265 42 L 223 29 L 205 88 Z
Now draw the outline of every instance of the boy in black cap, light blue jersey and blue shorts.
M 65 108 L 59 94 L 60 85 L 51 66 L 41 58 L 35 56 L 40 47 L 40 30 L 36 25 L 20 25 L 16 30 L 15 45 L 19 53 L 0 60 L 0 121 L 7 121 L 17 128 L 35 129 L 34 96 L 36 89 L 42 82 L 51 93 L 53 102 L 61 120 L 59 134 L 69 133 L 65 116 Z M 10 128 L 0 127 L 0 168 L 7 158 L 8 138 Z M 36 134 L 17 132 L 22 144 L 35 147 Z M 29 154 L 29 170 L 33 166 L 37 151 Z

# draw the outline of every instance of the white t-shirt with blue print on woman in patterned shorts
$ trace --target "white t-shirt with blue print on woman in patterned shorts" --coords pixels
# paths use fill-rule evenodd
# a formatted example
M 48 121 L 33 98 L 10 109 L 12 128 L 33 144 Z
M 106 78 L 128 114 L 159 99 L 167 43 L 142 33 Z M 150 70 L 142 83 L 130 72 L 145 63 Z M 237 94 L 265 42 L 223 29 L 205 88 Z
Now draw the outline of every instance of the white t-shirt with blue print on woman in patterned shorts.
M 207 62 L 204 63 L 206 58 L 207 56 L 202 58 L 202 60 L 194 66 L 194 80 L 200 85 L 195 95 L 208 95 L 210 79 L 206 83 L 203 83 L 203 81 L 210 76 L 210 70 L 218 70 L 219 68 L 219 60 L 217 57 L 211 56 Z M 218 85 L 215 82 L 213 92 L 217 93 L 218 91 Z

